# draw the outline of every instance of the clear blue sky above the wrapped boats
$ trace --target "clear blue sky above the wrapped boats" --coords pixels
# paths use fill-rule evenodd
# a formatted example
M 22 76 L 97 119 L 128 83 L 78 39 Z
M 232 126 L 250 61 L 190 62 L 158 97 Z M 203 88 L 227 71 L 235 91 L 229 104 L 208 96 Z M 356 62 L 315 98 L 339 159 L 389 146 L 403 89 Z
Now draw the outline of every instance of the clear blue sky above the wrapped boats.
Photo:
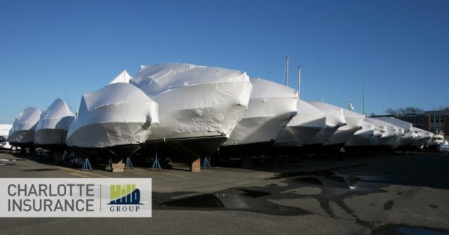
M 449 1 L 0 1 L 0 123 L 161 62 L 281 83 L 286 55 L 304 100 L 448 106 Z

